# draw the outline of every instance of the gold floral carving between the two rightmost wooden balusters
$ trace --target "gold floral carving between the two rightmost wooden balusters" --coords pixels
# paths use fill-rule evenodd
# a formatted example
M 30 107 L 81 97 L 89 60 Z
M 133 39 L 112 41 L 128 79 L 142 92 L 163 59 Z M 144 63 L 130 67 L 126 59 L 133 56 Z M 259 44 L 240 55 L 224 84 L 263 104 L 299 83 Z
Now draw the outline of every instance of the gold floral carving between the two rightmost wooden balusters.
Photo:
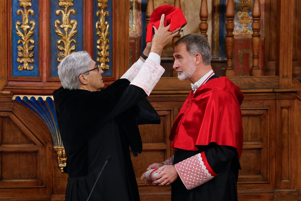
M 252 10 L 253 0 L 239 0 L 240 3 L 237 5 L 237 19 L 238 22 L 242 25 L 242 29 L 239 30 L 237 27 L 235 32 L 236 34 L 247 34 L 252 35 L 253 31 L 248 28 L 249 24 L 252 22 L 252 16 L 249 15 L 249 11 Z

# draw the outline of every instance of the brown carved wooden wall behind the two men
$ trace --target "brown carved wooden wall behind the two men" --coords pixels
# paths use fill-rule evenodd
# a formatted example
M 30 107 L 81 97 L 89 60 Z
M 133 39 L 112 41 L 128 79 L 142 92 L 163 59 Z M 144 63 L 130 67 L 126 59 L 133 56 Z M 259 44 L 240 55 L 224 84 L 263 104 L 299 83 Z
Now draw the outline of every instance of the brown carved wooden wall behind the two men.
M 14 93 L 0 93 L 0 200 L 64 200 L 68 176 L 57 167 L 57 154 L 48 128 L 31 110 L 11 99 L 14 94 L 21 93 L 49 94 L 59 83 L 38 83 L 37 91 L 33 89 L 33 83 L 14 82 L 10 85 L 7 82 L 10 46 L 6 39 L 12 28 L 7 24 L 8 1 L 0 1 L 0 27 L 4 30 L 0 36 L 5 39 L 0 48 L 0 59 L 5 67 L 0 68 L 0 89 L 5 86 L 5 90 Z M 92 0 L 84 2 L 88 8 Z M 280 37 L 287 31 L 279 30 L 284 24 L 280 26 L 278 16 L 290 11 L 290 2 L 293 2 L 291 11 L 295 17 L 293 37 L 287 42 L 293 53 L 292 62 L 285 63 L 283 58 L 277 58 L 277 55 L 287 55 L 287 49 L 278 45 Z M 121 4 L 125 6 L 116 6 L 114 22 L 116 78 L 128 68 L 129 55 L 129 33 L 123 29 L 129 27 L 129 4 L 116 0 L 116 5 Z M 279 5 L 285 7 L 285 12 Z M 241 105 L 244 146 L 237 186 L 239 200 L 301 200 L 301 41 L 298 37 L 301 23 L 297 17 L 300 16 L 300 6 L 299 0 L 265 0 L 265 76 L 229 77 L 245 96 Z M 87 18 L 91 20 L 91 16 Z M 89 51 L 92 47 L 88 41 L 84 48 Z M 283 69 L 293 72 L 294 78 L 287 79 L 289 83 L 283 84 L 284 78 L 279 74 Z M 109 79 L 106 84 L 112 81 Z M 140 176 L 148 165 L 172 156 L 169 131 L 189 92 L 189 81 L 164 77 L 148 97 L 160 115 L 161 124 L 139 127 L 143 152 L 132 157 L 132 161 L 141 200 L 170 200 L 170 187 L 145 186 Z

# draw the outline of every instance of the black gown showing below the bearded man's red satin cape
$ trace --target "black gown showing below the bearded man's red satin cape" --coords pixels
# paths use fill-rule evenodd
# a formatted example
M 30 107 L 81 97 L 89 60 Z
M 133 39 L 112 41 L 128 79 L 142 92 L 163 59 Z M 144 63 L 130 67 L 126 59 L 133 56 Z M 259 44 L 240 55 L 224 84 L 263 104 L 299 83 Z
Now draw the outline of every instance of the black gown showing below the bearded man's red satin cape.
M 208 79 L 219 78 L 213 75 Z M 199 150 L 190 151 L 175 150 L 173 165 L 190 158 L 200 152 L 204 152 L 207 162 L 212 170 L 218 174 L 206 183 L 187 190 L 181 178 L 178 177 L 172 184 L 172 201 L 237 201 L 237 178 L 240 169 L 237 149 L 232 146 L 220 146 L 210 143 L 206 146 L 198 146 Z

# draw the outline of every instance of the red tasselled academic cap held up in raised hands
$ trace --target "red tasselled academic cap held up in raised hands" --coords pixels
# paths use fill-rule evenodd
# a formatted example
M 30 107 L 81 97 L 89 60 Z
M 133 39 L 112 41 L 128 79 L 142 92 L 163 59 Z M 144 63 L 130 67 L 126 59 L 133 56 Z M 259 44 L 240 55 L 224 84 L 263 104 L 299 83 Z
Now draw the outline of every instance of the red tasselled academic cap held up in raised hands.
M 175 8 L 171 5 L 162 5 L 156 8 L 150 17 L 150 23 L 147 27 L 146 42 L 151 42 L 153 38 L 153 25 L 158 29 L 162 14 L 165 15 L 164 27 L 170 24 L 169 31 L 174 31 L 177 28 L 183 28 L 187 21 L 181 8 Z

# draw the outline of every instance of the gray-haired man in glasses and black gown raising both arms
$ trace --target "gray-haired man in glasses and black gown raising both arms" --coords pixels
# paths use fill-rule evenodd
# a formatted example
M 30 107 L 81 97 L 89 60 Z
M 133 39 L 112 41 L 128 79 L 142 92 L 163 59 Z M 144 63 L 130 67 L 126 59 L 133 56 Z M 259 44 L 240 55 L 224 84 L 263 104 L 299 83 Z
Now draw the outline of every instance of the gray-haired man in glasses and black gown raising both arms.
M 87 52 L 64 58 L 58 68 L 62 87 L 53 93 L 58 126 L 67 155 L 66 200 L 87 200 L 108 155 L 90 200 L 139 200 L 130 150 L 142 151 L 138 124 L 160 123 L 147 101 L 164 72 L 163 47 L 175 36 L 163 25 L 155 29 L 144 55 L 106 89 L 103 71 Z

